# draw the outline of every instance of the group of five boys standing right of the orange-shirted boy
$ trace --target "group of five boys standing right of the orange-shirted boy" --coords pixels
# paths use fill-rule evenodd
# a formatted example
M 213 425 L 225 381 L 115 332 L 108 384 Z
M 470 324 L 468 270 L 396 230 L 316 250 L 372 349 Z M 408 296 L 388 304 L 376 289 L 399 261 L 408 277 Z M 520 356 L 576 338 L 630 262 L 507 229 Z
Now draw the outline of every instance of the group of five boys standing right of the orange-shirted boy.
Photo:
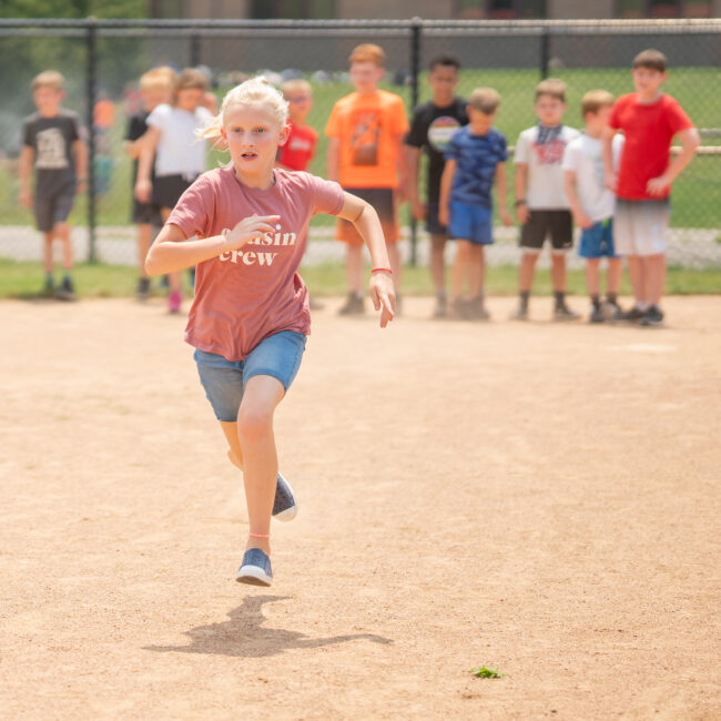
M 573 244 L 576 221 L 581 229 L 579 254 L 587 261 L 589 319 L 632 321 L 642 325 L 662 322 L 668 196 L 671 183 L 691 161 L 699 144 L 698 132 L 679 103 L 660 90 L 666 64 L 661 52 L 646 50 L 633 60 L 634 93 L 616 102 L 602 90 L 586 93 L 581 101 L 582 134 L 562 123 L 567 109 L 565 83 L 547 79 L 537 85 L 538 124 L 520 133 L 514 159 L 521 262 L 519 301 L 511 318 L 529 317 L 536 262 L 547 238 L 551 242 L 554 317 L 579 317 L 566 303 L 566 255 Z M 463 122 L 459 108 L 465 104 L 453 94 L 458 69 L 459 62 L 451 57 L 437 58 L 430 64 L 433 99 L 415 109 L 406 138 L 408 195 L 414 215 L 425 215 L 431 238 L 435 315 L 446 314 L 443 253 L 448 236 L 457 241 L 450 311 L 455 317 L 486 319 L 489 314 L 484 305 L 483 251 L 492 243 L 494 184 L 500 219 L 505 224 L 510 222 L 504 171 L 506 140 L 491 126 L 500 99 L 490 88 L 471 93 L 466 105 L 470 122 L 457 130 Z M 681 151 L 669 162 L 676 135 L 681 141 Z M 418 159 L 424 148 L 429 155 L 425 206 L 417 191 Z M 634 296 L 634 305 L 627 312 L 618 305 L 621 255 L 627 257 Z M 606 301 L 601 303 L 603 257 L 608 258 L 608 270 Z

